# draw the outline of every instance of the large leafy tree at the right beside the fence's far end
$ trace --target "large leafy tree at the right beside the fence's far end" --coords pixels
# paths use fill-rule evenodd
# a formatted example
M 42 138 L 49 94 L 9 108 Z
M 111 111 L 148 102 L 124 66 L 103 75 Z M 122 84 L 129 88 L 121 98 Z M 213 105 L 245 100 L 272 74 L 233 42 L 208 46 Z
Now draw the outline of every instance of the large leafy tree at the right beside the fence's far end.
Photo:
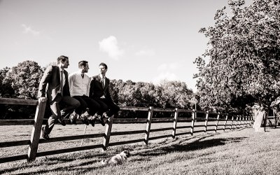
M 244 112 L 258 104 L 260 127 L 280 94 L 280 2 L 243 5 L 244 0 L 230 0 L 232 13 L 217 10 L 215 25 L 200 29 L 209 48 L 195 60 L 197 93 L 204 108 Z

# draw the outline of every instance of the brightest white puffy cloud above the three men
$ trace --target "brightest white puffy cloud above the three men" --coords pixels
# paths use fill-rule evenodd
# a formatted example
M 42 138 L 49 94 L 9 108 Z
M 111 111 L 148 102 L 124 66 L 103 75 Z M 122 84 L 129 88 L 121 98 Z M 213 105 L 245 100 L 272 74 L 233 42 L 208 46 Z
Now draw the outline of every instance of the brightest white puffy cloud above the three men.
M 118 57 L 125 53 L 125 50 L 118 48 L 118 41 L 115 36 L 109 36 L 100 41 L 99 49 L 103 52 L 108 52 L 109 57 L 113 59 L 118 59 Z

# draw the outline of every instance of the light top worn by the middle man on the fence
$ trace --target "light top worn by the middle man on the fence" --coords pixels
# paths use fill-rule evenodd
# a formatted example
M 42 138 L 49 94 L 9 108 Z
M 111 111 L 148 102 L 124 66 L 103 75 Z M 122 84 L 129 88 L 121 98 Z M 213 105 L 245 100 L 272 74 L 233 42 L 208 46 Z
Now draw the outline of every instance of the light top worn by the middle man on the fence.
M 76 71 L 69 76 L 69 88 L 71 96 L 83 96 L 87 97 L 90 94 L 90 77 L 84 73 L 84 77 L 81 76 L 80 71 Z

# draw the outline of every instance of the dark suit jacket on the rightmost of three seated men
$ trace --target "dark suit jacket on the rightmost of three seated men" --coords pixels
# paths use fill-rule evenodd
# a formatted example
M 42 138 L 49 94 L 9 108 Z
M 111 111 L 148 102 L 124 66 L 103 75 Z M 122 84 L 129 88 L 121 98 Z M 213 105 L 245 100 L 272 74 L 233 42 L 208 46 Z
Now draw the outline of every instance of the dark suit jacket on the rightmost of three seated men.
M 105 87 L 102 87 L 102 80 L 99 75 L 93 76 L 90 82 L 90 97 L 93 99 L 100 99 L 103 95 L 107 100 L 113 102 L 109 92 L 110 80 L 105 77 Z

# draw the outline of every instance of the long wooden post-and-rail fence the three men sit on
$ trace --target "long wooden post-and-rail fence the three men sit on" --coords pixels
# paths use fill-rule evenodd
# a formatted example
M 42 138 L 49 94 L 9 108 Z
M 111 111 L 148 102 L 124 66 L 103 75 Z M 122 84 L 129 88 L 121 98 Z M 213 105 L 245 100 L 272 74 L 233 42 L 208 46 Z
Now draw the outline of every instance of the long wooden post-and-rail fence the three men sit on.
M 76 136 L 69 136 L 69 137 L 54 137 L 48 141 L 44 139 L 40 139 L 41 135 L 41 127 L 43 124 L 43 116 L 45 113 L 45 105 L 46 102 L 38 102 L 38 100 L 30 100 L 30 99 L 7 99 L 7 98 L 0 98 L 0 104 L 15 104 L 15 105 L 34 105 L 37 106 L 36 115 L 34 120 L 0 120 L 0 125 L 31 125 L 33 124 L 33 128 L 31 131 L 31 138 L 30 140 L 23 140 L 23 141 L 8 141 L 8 142 L 0 142 L 0 148 L 6 148 L 11 146 L 25 146 L 28 145 L 28 152 L 27 154 L 22 155 L 15 155 L 6 158 L 0 158 L 0 163 L 3 162 L 11 162 L 15 160 L 35 160 L 36 157 L 46 156 L 46 155 L 55 155 L 60 153 L 70 153 L 74 151 L 84 151 L 88 149 L 94 148 L 102 148 L 104 151 L 109 146 L 118 146 L 123 144 L 132 144 L 132 143 L 139 143 L 144 142 L 148 145 L 149 140 L 154 139 L 162 139 L 166 137 L 175 138 L 176 136 L 190 134 L 193 136 L 194 133 L 197 132 L 217 132 L 217 130 L 232 130 L 239 127 L 247 127 L 251 126 L 251 122 L 253 118 L 247 116 L 230 116 L 227 113 L 210 113 L 209 111 L 195 111 L 195 110 L 186 110 L 186 109 L 156 109 L 151 107 L 127 107 L 127 106 L 120 106 L 121 111 L 146 111 L 148 113 L 148 118 L 109 118 L 109 121 L 106 123 L 106 129 L 103 134 L 83 134 L 83 135 L 76 135 Z M 174 118 L 153 118 L 154 112 L 169 112 L 174 113 Z M 191 113 L 191 118 L 179 118 L 179 113 Z M 202 113 L 204 115 L 198 115 Z M 211 117 L 210 117 L 211 115 Z M 197 118 L 196 116 L 205 116 L 202 118 Z M 215 117 L 213 117 L 215 116 Z M 200 121 L 204 123 L 204 125 L 196 125 Z M 214 121 L 214 125 L 209 125 L 210 121 Z M 66 120 L 69 123 L 69 120 Z M 153 123 L 173 123 L 173 127 L 165 127 L 165 128 L 158 128 L 158 129 L 151 129 L 151 124 Z M 81 121 L 78 121 L 81 123 Z M 135 130 L 135 131 L 128 131 L 128 132 L 111 132 L 113 123 L 146 123 L 146 130 Z M 190 123 L 189 126 L 177 126 L 177 123 Z M 220 126 L 220 128 L 218 128 Z M 209 130 L 209 127 L 212 127 Z M 213 129 L 214 127 L 214 129 Z M 195 130 L 198 128 L 203 128 L 203 130 Z M 184 130 L 186 132 L 181 132 L 176 134 L 177 130 L 182 129 L 189 129 Z M 157 136 L 157 137 L 150 137 L 151 132 L 161 132 L 161 131 L 171 131 L 170 134 Z M 134 139 L 129 141 L 120 141 L 115 143 L 110 143 L 111 136 L 120 136 L 120 135 L 127 135 L 127 134 L 145 134 L 144 139 Z M 55 151 L 45 151 L 45 152 L 38 152 L 38 144 L 56 142 L 56 141 L 72 141 L 77 139 L 92 139 L 97 137 L 104 137 L 103 144 L 96 144 L 90 146 L 80 146 L 76 148 L 64 148 Z

